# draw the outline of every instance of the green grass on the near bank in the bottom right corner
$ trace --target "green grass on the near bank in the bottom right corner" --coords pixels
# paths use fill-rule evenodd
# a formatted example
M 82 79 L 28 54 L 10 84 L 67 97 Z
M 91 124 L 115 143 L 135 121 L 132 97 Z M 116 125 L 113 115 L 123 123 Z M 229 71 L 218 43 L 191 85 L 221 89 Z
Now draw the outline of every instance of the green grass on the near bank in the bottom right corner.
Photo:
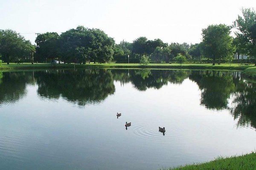
M 192 164 L 166 170 L 256 170 L 256 153 L 229 158 L 219 157 L 214 161 Z

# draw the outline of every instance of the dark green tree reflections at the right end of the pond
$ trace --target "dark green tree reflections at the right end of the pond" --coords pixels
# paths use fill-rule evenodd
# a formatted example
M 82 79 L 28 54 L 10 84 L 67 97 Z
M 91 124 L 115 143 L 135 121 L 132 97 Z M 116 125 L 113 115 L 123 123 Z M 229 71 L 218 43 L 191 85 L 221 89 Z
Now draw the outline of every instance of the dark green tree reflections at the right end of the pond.
M 193 71 L 189 79 L 201 89 L 201 104 L 206 108 L 227 108 L 238 126 L 256 128 L 256 83 L 241 79 L 235 71 Z

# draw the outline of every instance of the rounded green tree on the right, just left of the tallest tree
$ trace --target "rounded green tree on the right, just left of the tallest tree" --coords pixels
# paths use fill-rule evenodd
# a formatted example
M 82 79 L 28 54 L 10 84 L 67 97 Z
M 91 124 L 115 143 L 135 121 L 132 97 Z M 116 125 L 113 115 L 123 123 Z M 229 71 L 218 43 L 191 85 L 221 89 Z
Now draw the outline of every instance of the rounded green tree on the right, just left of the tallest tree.
M 230 36 L 230 26 L 224 24 L 210 25 L 202 30 L 204 54 L 213 59 L 212 65 L 215 65 L 216 59 L 220 64 L 220 59 L 224 59 L 233 54 L 234 46 Z

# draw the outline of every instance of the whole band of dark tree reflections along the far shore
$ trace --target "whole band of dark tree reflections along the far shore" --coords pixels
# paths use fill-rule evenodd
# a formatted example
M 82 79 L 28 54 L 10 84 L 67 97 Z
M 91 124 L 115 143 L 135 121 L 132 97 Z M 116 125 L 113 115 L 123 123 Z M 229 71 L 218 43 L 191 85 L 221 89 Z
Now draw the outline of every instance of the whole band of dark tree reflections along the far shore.
M 129 74 L 128 74 L 129 72 Z M 81 106 L 99 103 L 115 92 L 113 80 L 131 82 L 139 91 L 160 89 L 168 83 L 194 81 L 201 90 L 201 105 L 228 109 L 238 126 L 256 128 L 256 83 L 234 71 L 78 69 L 0 72 L 0 105 L 26 96 L 26 85 L 38 85 L 43 98 L 65 100 Z

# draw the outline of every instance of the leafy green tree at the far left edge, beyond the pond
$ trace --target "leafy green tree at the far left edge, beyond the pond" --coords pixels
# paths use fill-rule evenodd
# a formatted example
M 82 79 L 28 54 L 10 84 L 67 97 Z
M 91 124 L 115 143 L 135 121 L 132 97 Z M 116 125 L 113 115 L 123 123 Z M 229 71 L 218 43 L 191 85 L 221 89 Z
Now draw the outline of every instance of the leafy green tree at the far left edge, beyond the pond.
M 29 46 L 31 42 L 25 40 L 16 31 L 7 29 L 0 30 L 0 54 L 3 61 L 9 62 L 29 58 Z

